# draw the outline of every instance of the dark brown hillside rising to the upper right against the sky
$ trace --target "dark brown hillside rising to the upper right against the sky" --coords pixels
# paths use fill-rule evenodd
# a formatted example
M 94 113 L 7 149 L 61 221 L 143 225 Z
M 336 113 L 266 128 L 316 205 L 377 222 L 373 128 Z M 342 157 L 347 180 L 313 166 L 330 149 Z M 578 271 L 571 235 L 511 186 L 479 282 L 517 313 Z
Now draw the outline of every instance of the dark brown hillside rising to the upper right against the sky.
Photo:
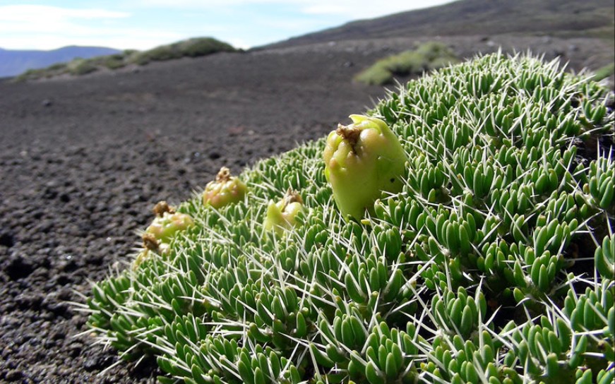
M 267 47 L 384 37 L 524 34 L 613 39 L 613 0 L 460 0 L 357 20 Z

